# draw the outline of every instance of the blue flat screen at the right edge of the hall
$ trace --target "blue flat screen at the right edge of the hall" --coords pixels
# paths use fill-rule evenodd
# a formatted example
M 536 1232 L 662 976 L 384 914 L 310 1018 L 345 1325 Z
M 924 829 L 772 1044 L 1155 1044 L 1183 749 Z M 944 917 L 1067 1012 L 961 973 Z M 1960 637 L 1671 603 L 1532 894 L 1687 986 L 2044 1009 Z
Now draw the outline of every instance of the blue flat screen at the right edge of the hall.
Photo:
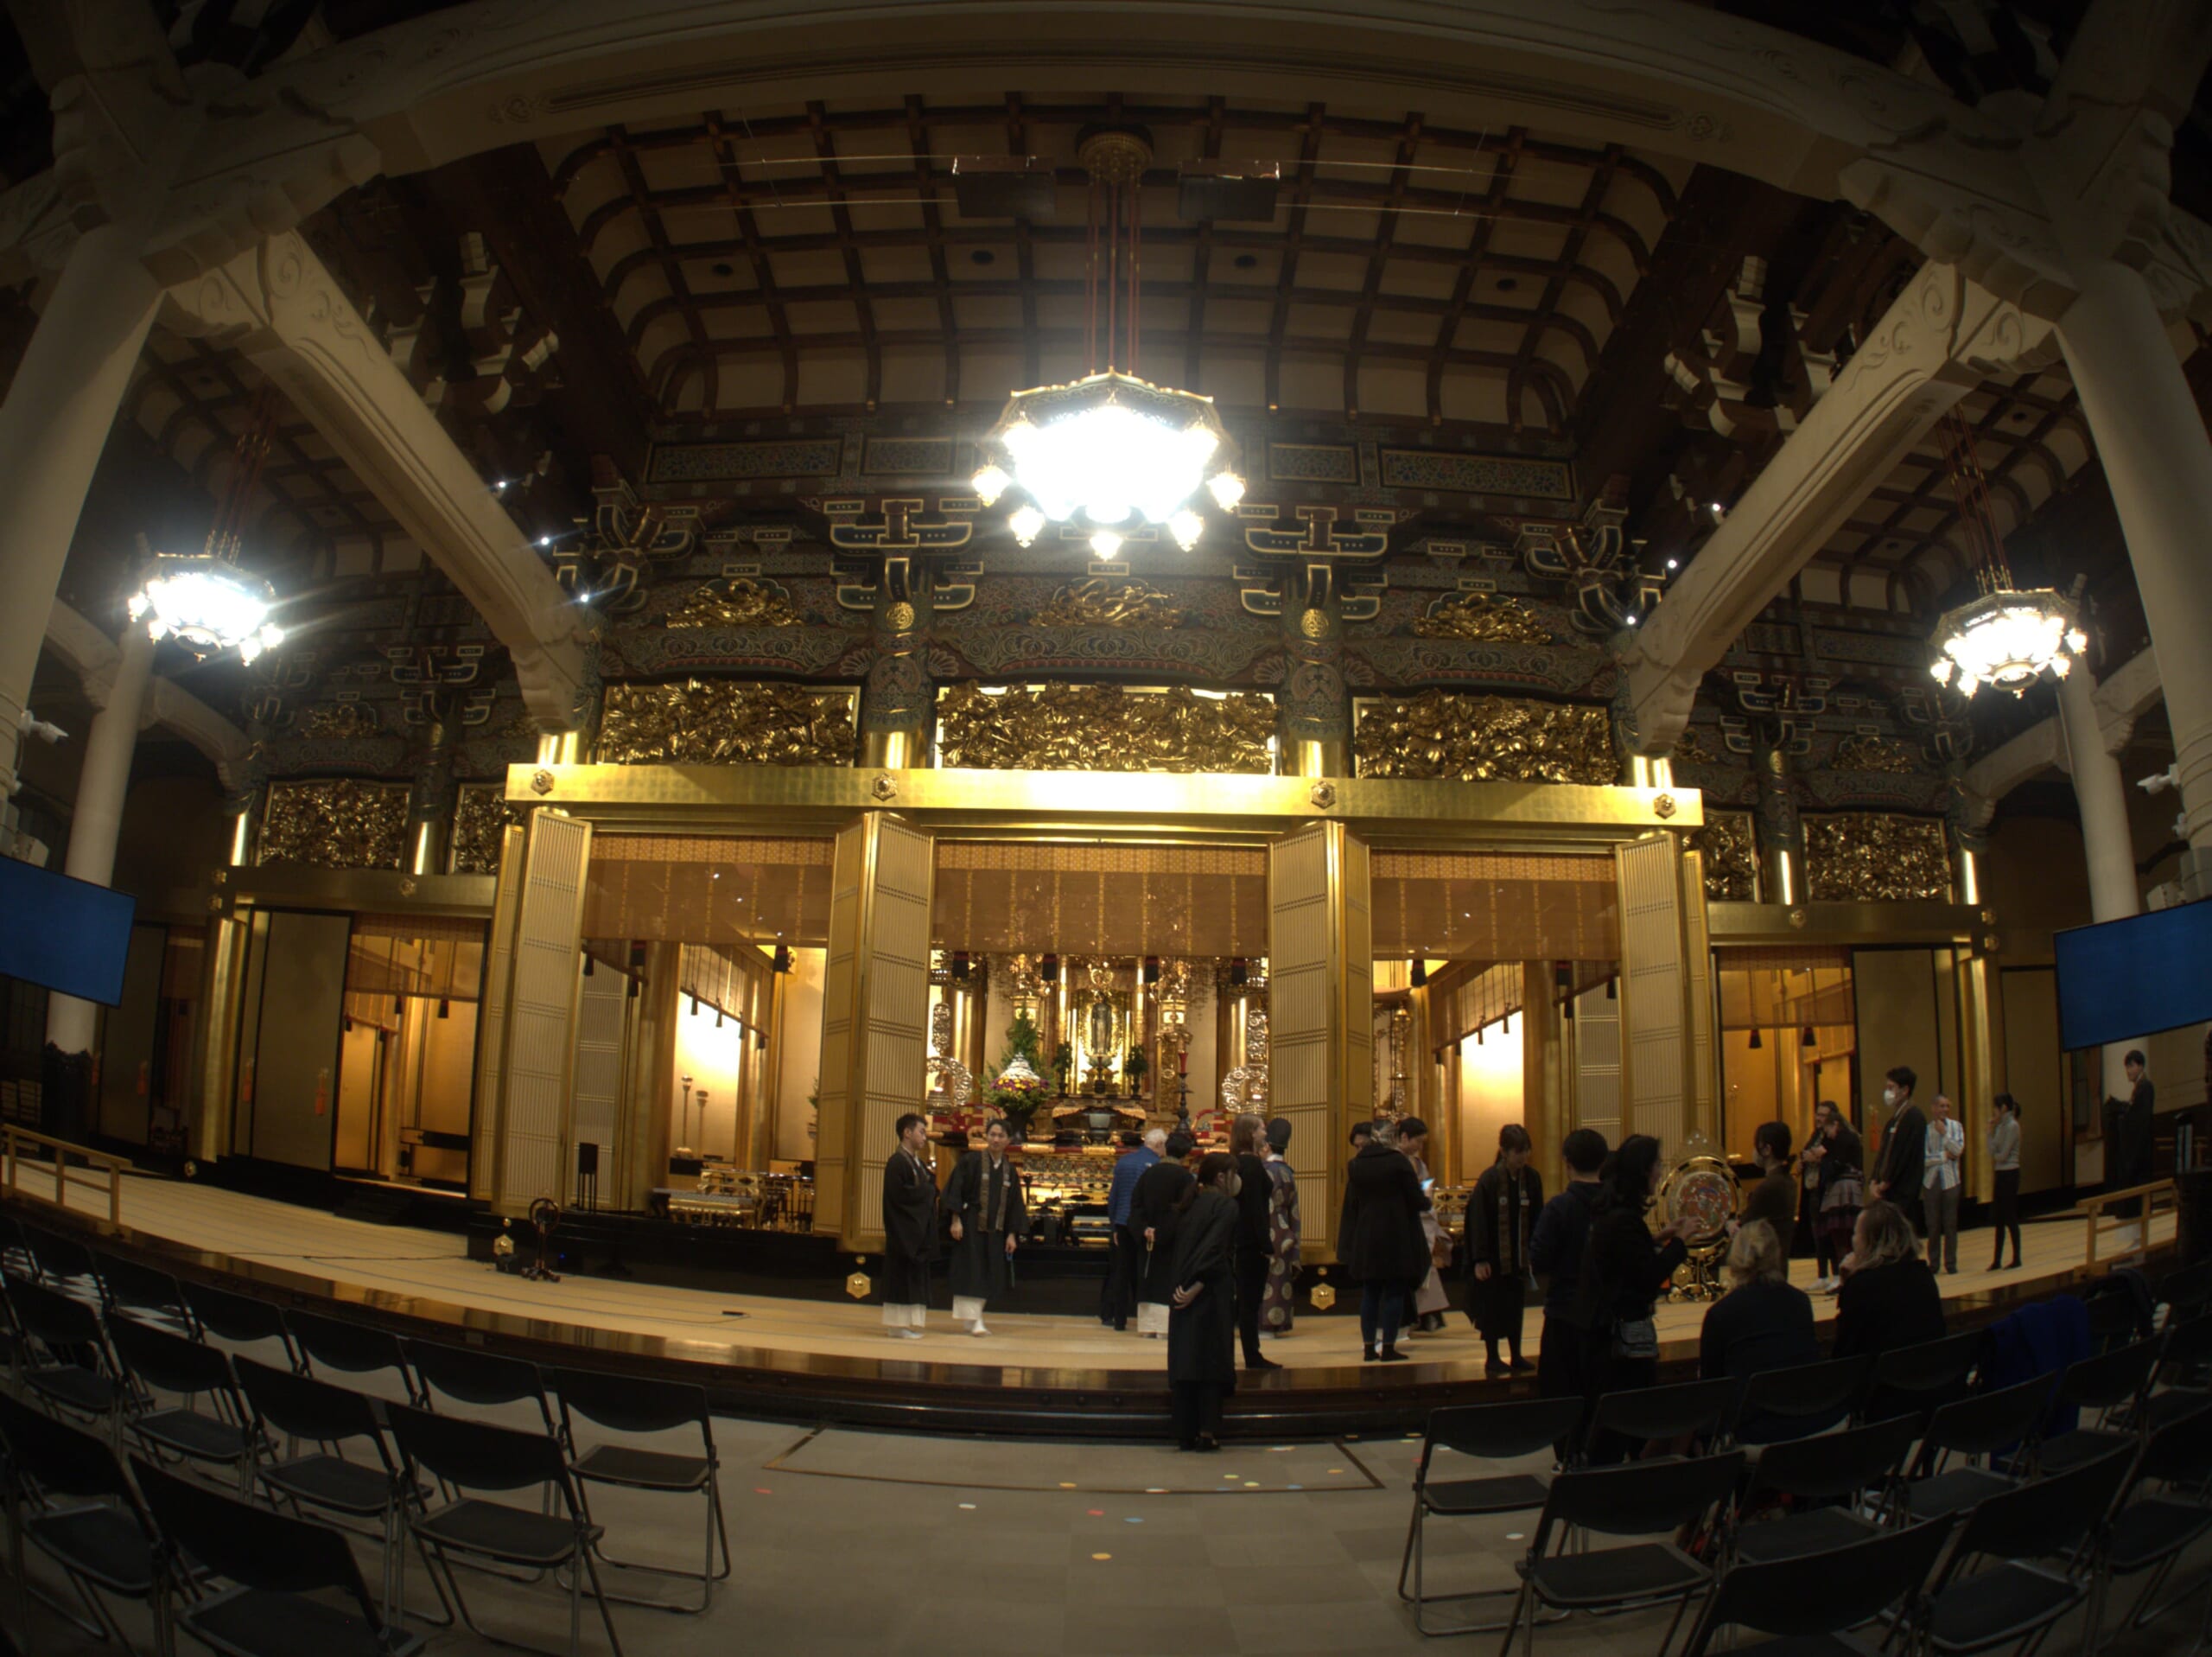
M 2212 1020 L 2212 900 L 2053 936 L 2059 1046 L 2101 1046 Z

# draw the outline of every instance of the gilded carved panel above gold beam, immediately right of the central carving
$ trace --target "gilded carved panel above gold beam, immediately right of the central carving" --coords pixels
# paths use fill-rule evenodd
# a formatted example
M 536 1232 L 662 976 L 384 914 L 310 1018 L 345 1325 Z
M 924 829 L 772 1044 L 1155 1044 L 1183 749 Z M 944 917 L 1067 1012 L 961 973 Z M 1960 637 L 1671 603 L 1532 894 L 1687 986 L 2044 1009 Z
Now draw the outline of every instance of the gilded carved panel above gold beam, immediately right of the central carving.
M 1604 708 L 1425 690 L 1360 701 L 1356 717 L 1360 777 L 1597 785 L 1619 774 Z

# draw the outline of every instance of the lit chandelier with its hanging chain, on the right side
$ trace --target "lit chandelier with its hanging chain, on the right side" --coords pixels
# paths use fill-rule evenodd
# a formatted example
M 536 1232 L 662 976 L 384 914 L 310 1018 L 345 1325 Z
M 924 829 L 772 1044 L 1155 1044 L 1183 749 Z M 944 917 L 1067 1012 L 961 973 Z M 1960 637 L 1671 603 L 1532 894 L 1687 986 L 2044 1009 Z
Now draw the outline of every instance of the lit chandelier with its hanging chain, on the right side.
M 1973 573 L 1980 595 L 1947 611 L 1936 624 L 1936 661 L 1929 673 L 1936 684 L 1955 684 L 1973 695 L 1984 684 L 2011 690 L 2015 697 L 2042 679 L 2064 679 L 2073 661 L 2088 648 L 2073 600 L 2039 586 L 2020 591 L 1989 511 L 1989 484 L 1973 458 L 1973 434 L 1953 409 L 1942 420 L 1944 465 L 1958 496 L 1960 533 L 1973 551 Z

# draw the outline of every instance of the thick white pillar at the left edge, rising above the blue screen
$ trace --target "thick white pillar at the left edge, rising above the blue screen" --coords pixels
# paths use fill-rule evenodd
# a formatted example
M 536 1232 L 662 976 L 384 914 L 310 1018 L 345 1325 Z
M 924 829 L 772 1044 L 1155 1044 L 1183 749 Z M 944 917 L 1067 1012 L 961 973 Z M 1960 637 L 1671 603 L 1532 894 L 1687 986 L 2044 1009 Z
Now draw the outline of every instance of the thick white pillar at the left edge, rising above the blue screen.
M 22 706 L 84 491 L 159 301 L 131 235 L 86 232 L 0 403 L 0 794 L 15 783 Z

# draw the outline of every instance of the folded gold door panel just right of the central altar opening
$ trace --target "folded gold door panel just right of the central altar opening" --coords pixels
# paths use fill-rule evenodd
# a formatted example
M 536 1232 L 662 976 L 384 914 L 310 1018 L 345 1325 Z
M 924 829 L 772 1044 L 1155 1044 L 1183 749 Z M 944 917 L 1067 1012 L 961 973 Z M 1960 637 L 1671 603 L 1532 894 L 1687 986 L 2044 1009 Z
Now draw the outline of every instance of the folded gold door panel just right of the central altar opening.
M 1305 1241 L 1336 1259 L 1345 1137 L 1374 1108 L 1374 931 L 1367 843 L 1312 823 L 1267 852 L 1267 1091 L 1290 1137 Z M 1318 1223 L 1316 1223 L 1318 1221 Z

